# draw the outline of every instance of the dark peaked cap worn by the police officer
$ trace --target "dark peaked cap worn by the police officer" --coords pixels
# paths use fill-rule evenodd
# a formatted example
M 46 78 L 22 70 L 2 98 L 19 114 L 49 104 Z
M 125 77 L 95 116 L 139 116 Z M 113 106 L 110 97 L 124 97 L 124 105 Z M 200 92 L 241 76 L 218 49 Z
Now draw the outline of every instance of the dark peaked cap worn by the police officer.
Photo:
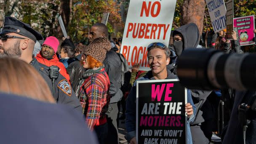
M 0 32 L 0 35 L 15 32 L 19 35 L 30 38 L 31 40 L 43 40 L 43 36 L 40 32 L 37 32 L 35 29 L 25 24 L 22 21 L 19 21 L 13 17 L 7 16 L 4 20 L 3 29 Z

